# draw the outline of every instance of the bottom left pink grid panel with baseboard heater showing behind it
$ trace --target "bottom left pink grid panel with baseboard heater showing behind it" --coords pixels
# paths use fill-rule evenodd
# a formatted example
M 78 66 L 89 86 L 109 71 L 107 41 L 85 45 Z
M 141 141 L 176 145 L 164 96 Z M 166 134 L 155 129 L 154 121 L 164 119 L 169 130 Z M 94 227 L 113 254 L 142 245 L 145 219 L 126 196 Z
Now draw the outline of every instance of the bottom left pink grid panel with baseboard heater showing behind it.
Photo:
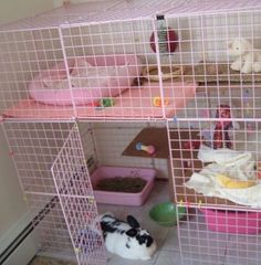
M 76 262 L 72 241 L 58 195 L 30 193 L 24 195 L 33 214 L 38 250 L 42 255 Z

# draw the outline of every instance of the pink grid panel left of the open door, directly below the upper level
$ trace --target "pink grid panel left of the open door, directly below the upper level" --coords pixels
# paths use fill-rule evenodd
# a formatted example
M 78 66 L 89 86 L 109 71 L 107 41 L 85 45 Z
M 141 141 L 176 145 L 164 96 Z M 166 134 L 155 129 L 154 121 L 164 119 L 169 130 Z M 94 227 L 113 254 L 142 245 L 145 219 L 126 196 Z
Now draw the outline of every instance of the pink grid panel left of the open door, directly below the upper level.
M 51 167 L 73 123 L 3 123 L 22 189 L 27 193 L 56 194 Z

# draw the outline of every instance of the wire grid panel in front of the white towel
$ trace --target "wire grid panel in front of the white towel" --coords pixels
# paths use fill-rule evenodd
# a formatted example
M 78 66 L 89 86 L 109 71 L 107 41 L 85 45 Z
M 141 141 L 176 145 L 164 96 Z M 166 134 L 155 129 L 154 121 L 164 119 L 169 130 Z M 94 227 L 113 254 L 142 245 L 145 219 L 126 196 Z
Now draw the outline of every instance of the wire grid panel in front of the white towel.
M 220 119 L 169 128 L 177 203 L 260 209 L 260 123 L 229 123 L 226 129 Z

